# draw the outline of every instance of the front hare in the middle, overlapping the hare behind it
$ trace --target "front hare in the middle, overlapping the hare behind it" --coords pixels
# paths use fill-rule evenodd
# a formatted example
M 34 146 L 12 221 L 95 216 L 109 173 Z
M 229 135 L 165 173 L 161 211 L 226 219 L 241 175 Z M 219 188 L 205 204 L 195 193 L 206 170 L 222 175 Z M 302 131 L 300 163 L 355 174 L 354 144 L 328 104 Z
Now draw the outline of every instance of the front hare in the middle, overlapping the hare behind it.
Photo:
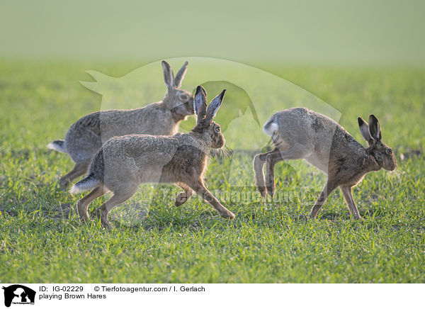
M 198 86 L 194 99 L 198 121 L 190 133 L 174 136 L 125 135 L 105 142 L 91 161 L 86 178 L 74 184 L 70 191 L 79 193 L 93 189 L 77 202 L 81 219 L 89 220 L 89 203 L 110 190 L 113 196 L 96 213 L 103 227 L 111 228 L 109 211 L 127 201 L 140 184 L 146 182 L 180 186 L 184 192 L 177 196 L 176 206 L 181 206 L 196 191 L 222 217 L 234 218 L 234 214 L 222 206 L 203 184 L 210 149 L 225 145 L 220 125 L 212 121 L 224 96 L 225 90 L 211 101 L 207 110 L 206 91 Z

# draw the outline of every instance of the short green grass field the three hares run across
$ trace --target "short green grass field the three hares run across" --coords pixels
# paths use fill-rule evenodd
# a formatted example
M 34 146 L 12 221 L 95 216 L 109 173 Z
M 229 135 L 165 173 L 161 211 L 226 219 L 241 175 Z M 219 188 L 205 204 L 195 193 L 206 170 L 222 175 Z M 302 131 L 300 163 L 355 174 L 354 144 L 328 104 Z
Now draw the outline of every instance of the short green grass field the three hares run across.
M 356 118 L 380 118 L 399 168 L 368 174 L 354 190 L 361 222 L 350 219 L 339 191 L 318 220 L 295 219 L 308 213 L 325 181 L 304 162 L 278 164 L 279 194 L 262 201 L 252 191 L 252 153 L 235 151 L 211 159 L 206 175 L 235 220 L 219 218 L 197 197 L 175 208 L 175 190 L 164 185 L 148 206 L 140 202 L 147 211 L 132 224 L 120 219 L 121 207 L 112 231 L 83 225 L 74 208 L 79 197 L 57 187 L 72 162 L 45 145 L 101 108 L 101 96 L 79 84 L 90 80 L 86 69 L 120 76 L 138 66 L 0 61 L 0 282 L 425 282 L 425 70 L 269 68 L 341 112 L 341 125 L 359 141 Z M 278 99 L 271 104 L 278 107 Z M 231 181 L 229 169 L 239 171 Z M 153 191 L 143 186 L 132 203 Z M 91 216 L 102 201 L 91 205 Z

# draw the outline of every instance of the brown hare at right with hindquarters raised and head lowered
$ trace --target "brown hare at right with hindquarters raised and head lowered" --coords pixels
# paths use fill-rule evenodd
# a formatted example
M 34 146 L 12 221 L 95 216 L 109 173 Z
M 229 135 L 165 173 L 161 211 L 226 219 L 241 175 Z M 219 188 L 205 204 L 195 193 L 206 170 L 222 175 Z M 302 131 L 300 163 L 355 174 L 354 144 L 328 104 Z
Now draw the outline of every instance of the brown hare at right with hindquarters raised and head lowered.
M 253 162 L 256 185 L 261 196 L 265 197 L 266 193 L 274 195 L 274 167 L 277 162 L 305 159 L 328 175 L 327 184 L 310 211 L 310 218 L 316 218 L 329 193 L 339 187 L 353 218 L 361 219 L 352 187 L 368 172 L 381 168 L 393 171 L 397 162 L 392 149 L 381 140 L 378 118 L 370 115 L 368 123 L 365 123 L 359 117 L 358 126 L 368 142 L 367 148 L 334 120 L 307 108 L 289 108 L 273 114 L 263 126 L 263 131 L 271 135 L 275 149 L 256 154 Z M 266 179 L 263 174 L 264 164 Z

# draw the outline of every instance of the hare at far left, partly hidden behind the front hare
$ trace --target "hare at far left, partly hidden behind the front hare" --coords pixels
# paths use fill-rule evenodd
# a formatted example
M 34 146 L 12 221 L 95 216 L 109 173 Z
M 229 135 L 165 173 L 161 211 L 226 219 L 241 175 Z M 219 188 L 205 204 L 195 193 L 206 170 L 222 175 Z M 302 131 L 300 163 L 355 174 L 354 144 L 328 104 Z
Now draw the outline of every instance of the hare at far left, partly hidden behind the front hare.
M 162 101 L 132 110 L 109 110 L 91 113 L 69 128 L 65 140 L 55 140 L 47 147 L 69 154 L 75 162 L 71 172 L 62 176 L 60 186 L 87 172 L 91 158 L 102 143 L 114 136 L 128 134 L 174 135 L 181 120 L 193 115 L 193 95 L 180 89 L 188 62 L 174 77 L 170 64 L 162 61 L 166 94 Z

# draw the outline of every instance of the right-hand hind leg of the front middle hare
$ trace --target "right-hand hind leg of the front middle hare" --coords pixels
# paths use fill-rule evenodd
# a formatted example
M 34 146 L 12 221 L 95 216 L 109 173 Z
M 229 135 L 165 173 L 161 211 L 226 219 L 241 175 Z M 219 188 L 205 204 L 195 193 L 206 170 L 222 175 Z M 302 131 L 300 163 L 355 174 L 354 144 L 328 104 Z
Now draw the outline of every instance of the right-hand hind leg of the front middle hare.
M 125 186 L 121 186 L 120 189 L 113 191 L 113 196 L 109 198 L 108 201 L 96 209 L 96 215 L 101 219 L 101 224 L 103 227 L 109 230 L 113 228 L 111 223 L 108 221 L 109 211 L 111 211 L 111 209 L 118 204 L 123 203 L 131 198 L 136 193 L 138 187 L 138 184 L 125 184 Z

